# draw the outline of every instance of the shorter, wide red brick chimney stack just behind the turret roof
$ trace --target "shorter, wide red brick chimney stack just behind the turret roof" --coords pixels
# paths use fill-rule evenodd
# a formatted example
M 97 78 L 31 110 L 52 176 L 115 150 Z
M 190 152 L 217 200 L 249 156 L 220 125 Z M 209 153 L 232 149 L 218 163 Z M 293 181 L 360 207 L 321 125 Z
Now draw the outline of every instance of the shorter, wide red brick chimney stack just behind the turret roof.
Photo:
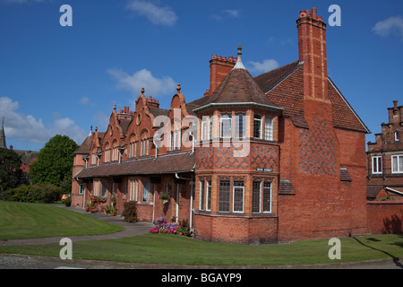
M 236 65 L 236 57 L 221 57 L 217 55 L 211 56 L 210 60 L 210 90 L 207 90 L 204 96 L 210 96 L 224 81 L 227 74 Z

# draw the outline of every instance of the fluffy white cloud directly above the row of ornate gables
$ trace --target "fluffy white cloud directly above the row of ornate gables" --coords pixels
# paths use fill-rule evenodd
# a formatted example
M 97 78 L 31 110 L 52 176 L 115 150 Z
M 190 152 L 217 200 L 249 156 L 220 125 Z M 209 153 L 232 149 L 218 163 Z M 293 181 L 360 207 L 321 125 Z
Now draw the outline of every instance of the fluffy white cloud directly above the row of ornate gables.
M 142 69 L 132 75 L 118 69 L 109 69 L 107 73 L 117 80 L 118 88 L 132 91 L 135 96 L 140 95 L 141 88 L 144 88 L 146 94 L 151 96 L 176 93 L 176 83 L 171 77 L 159 79 L 147 69 Z

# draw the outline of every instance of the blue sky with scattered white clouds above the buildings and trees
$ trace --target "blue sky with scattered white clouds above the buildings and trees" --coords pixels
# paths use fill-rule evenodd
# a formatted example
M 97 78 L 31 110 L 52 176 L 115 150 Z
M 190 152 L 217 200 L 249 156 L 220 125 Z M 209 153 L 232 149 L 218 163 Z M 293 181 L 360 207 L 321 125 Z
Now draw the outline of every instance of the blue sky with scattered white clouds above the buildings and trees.
M 73 26 L 59 23 L 73 8 Z M 403 1 L 0 0 L 0 117 L 7 145 L 39 151 L 50 137 L 81 144 L 107 128 L 145 87 L 169 108 L 180 83 L 186 101 L 209 88 L 211 55 L 236 56 L 253 75 L 298 59 L 296 19 L 330 4 L 328 73 L 373 134 L 392 100 L 403 105 Z M 374 141 L 374 135 L 367 141 Z

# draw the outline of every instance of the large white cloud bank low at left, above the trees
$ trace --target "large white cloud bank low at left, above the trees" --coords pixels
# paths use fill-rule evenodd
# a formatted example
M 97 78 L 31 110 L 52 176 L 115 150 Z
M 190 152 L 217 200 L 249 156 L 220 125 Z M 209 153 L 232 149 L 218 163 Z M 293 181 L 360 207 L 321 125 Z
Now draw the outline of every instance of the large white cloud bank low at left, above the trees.
M 6 138 L 29 143 L 47 143 L 51 137 L 58 134 L 68 135 L 81 144 L 87 135 L 69 117 L 56 118 L 50 126 L 45 126 L 41 118 L 18 112 L 19 107 L 18 101 L 7 97 L 0 98 L 0 115 L 4 117 Z

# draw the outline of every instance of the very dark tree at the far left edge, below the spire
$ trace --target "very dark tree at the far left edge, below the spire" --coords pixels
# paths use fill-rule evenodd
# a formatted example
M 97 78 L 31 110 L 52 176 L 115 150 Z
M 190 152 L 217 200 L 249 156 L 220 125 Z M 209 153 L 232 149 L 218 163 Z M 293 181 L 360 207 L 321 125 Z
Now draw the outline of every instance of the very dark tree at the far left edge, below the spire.
M 21 159 L 13 150 L 0 149 L 0 192 L 25 183 Z

